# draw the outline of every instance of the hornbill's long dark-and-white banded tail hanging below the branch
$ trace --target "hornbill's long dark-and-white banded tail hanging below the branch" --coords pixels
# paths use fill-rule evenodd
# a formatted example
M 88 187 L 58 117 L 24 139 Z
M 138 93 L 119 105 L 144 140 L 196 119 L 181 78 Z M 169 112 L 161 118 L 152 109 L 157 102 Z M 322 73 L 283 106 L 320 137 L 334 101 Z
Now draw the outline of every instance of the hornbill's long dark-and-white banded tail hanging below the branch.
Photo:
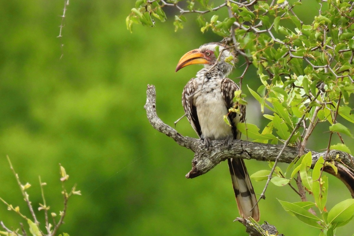
M 252 217 L 259 221 L 259 209 L 255 191 L 247 173 L 245 162 L 240 158 L 227 159 L 234 187 L 237 206 L 242 218 Z

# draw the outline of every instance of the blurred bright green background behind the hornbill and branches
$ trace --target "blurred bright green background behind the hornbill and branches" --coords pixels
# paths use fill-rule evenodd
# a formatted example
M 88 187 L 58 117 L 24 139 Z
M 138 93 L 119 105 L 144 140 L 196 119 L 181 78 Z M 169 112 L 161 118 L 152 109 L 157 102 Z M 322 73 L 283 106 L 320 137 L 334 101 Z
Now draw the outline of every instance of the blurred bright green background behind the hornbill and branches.
M 196 65 L 175 73 L 179 58 L 221 38 L 202 34 L 193 15 L 175 33 L 171 22 L 175 11 L 168 8 L 169 22 L 157 22 L 154 28 L 134 25 L 131 34 L 125 18 L 134 3 L 70 1 L 60 40 L 64 1 L 2 1 L 0 196 L 28 214 L 8 155 L 22 182 L 32 184 L 33 206 L 42 202 L 40 175 L 47 183 L 47 204 L 58 214 L 63 202 L 61 163 L 70 175 L 67 188 L 77 183 L 82 192 L 69 200 L 61 228 L 72 236 L 247 235 L 241 224 L 233 222 L 238 210 L 226 163 L 201 177 L 186 179 L 193 153 L 155 131 L 143 109 L 147 84 L 153 84 L 158 114 L 172 126 L 183 115 L 182 89 L 200 68 Z M 311 22 L 311 14 L 318 10 L 309 6 L 313 11 L 299 14 L 306 14 L 305 21 Z M 227 14 L 224 10 L 218 13 Z M 243 69 L 236 69 L 230 77 L 237 81 Z M 256 90 L 260 82 L 254 70 L 244 85 Z M 247 122 L 265 122 L 255 100 L 247 96 L 247 101 Z M 327 124 L 321 127 L 328 129 Z M 177 130 L 196 137 L 186 119 L 178 123 Z M 314 134 L 309 148 L 326 148 L 329 134 L 323 130 Z M 252 160 L 246 165 L 250 174 L 268 166 Z M 264 183 L 253 185 L 260 193 Z M 330 178 L 329 188 L 329 209 L 350 198 L 335 178 Z M 318 235 L 277 201 L 299 201 L 290 188 L 270 185 L 266 196 L 259 206 L 261 221 L 275 224 L 288 236 Z M 38 215 L 43 220 L 42 212 Z M 8 228 L 19 228 L 19 222 L 24 222 L 2 204 L 0 220 Z M 352 235 L 353 229 L 347 226 L 337 233 Z

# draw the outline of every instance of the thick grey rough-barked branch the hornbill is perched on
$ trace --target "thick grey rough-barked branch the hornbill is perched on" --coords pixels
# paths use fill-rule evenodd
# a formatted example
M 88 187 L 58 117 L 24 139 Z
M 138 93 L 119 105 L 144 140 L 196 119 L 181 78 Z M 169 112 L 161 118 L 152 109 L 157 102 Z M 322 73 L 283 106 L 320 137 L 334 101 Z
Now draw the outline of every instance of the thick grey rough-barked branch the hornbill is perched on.
M 157 116 L 156 91 L 154 85 L 148 85 L 147 99 L 144 108 L 151 125 L 157 131 L 166 134 L 167 136 L 173 138 L 173 140 L 175 140 L 179 145 L 184 146 L 185 148 L 188 148 L 194 152 L 192 170 L 186 175 L 187 178 L 194 178 L 205 174 L 220 162 L 230 158 L 230 156 L 244 159 L 255 159 L 258 161 L 275 161 L 279 152 L 283 148 L 283 145 L 255 143 L 244 140 L 232 140 L 231 148 L 228 149 L 228 147 L 224 145 L 224 140 L 213 140 L 212 148 L 206 149 L 202 140 L 182 136 L 176 131 L 176 129 L 166 125 Z M 308 149 L 304 150 L 305 153 L 309 151 L 310 150 Z M 320 156 L 325 155 L 326 151 L 320 153 L 312 151 L 312 167 L 315 165 Z M 337 155 L 339 159 L 336 159 Z M 297 156 L 298 148 L 287 146 L 278 161 L 290 163 Z M 353 159 L 354 157 L 351 158 Z M 352 197 L 354 197 L 354 173 L 350 171 L 350 169 L 354 169 L 354 166 L 350 161 L 350 156 L 342 151 L 331 150 L 327 157 L 327 160 L 330 159 L 336 161 L 335 165 L 338 168 L 338 173 L 336 174 L 330 167 L 325 167 L 324 171 L 335 175 L 337 178 L 342 180 L 342 182 L 348 187 Z M 341 165 L 337 161 L 341 161 L 348 168 Z

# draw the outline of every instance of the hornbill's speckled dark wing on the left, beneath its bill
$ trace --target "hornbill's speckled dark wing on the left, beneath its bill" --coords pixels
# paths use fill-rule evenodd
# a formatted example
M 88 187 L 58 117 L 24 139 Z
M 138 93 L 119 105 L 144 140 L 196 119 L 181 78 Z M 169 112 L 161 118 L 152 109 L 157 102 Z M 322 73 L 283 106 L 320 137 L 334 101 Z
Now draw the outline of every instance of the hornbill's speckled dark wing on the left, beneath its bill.
M 184 112 L 187 115 L 189 123 L 192 125 L 194 131 L 201 137 L 201 129 L 197 115 L 196 107 L 193 105 L 193 96 L 196 91 L 197 84 L 194 78 L 190 79 L 187 85 L 184 86 L 182 93 L 182 105 Z

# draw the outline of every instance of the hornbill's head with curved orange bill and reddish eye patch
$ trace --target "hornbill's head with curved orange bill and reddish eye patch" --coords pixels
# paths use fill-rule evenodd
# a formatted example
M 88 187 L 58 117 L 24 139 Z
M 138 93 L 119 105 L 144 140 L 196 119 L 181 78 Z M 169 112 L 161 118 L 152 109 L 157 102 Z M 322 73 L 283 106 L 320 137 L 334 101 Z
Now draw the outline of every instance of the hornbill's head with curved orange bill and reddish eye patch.
M 219 47 L 219 53 L 221 53 L 218 62 L 217 56 L 215 55 L 217 46 Z M 228 58 L 229 56 L 234 57 L 235 55 L 232 51 L 225 49 L 222 44 L 216 42 L 204 44 L 198 49 L 194 49 L 185 53 L 177 64 L 176 72 L 182 69 L 183 67 L 186 67 L 187 65 L 204 64 L 204 67 L 208 68 L 214 65 L 215 62 L 217 62 L 218 69 L 222 70 L 223 74 L 228 75 L 233 69 L 233 65 L 225 62 L 225 58 Z

